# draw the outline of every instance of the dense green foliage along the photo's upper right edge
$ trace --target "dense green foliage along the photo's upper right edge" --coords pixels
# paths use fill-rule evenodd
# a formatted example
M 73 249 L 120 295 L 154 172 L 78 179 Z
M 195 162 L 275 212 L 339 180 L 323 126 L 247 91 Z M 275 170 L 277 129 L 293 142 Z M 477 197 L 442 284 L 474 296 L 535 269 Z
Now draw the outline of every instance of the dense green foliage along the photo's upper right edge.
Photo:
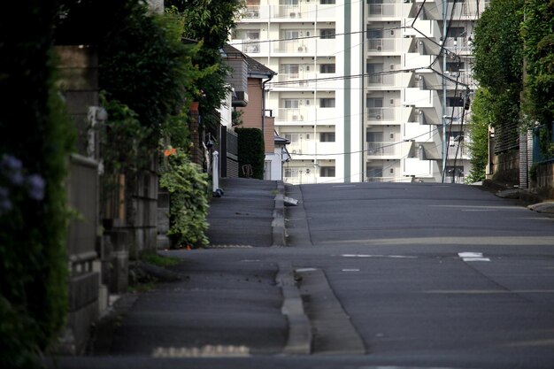
M 554 1 L 527 0 L 521 24 L 527 66 L 522 112 L 527 127 L 540 130 L 542 157 L 552 158 L 554 121 Z

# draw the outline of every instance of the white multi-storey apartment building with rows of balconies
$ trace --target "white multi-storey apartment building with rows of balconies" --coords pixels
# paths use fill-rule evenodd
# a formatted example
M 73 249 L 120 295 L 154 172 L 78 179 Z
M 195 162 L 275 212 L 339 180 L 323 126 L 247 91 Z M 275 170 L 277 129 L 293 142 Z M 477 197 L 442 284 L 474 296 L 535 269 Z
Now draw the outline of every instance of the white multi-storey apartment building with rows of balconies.
M 248 0 L 230 43 L 278 74 L 284 181 L 464 181 L 478 0 Z

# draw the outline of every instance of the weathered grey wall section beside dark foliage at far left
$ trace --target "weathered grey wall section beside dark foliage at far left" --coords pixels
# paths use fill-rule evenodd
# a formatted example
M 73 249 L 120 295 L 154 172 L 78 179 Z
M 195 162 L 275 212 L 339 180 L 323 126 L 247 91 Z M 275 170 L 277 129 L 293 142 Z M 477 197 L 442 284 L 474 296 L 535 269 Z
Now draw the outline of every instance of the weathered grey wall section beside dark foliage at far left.
M 79 132 L 78 152 L 69 160 L 66 191 L 69 204 L 81 219 L 72 219 L 68 228 L 67 254 L 70 280 L 69 311 L 58 351 L 79 354 L 86 348 L 92 323 L 107 304 L 101 285 L 101 264 L 96 246 L 98 216 L 98 161 L 87 156 L 88 108 L 98 104 L 96 50 L 79 46 L 56 48 L 60 57 L 59 88 Z M 101 290 L 104 293 L 101 293 Z M 99 296 L 103 296 L 101 300 Z

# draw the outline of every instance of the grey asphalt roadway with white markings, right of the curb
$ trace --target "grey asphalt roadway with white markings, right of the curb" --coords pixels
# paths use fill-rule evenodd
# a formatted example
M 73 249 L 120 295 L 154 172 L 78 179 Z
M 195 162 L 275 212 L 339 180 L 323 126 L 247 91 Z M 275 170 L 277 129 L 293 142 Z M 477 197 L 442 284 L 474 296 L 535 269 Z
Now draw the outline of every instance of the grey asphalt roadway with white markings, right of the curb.
M 312 252 L 294 265 L 325 273 L 367 354 L 554 367 L 554 219 L 461 185 L 301 190 L 309 230 L 290 241 Z

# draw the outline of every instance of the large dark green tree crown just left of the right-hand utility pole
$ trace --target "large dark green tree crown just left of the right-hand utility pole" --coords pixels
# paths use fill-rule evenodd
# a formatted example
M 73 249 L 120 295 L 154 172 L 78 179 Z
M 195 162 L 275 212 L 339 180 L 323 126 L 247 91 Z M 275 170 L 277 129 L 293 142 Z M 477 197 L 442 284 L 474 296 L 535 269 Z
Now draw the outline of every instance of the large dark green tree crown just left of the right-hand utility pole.
M 475 27 L 473 75 L 490 92 L 493 127 L 519 125 L 523 42 L 519 24 L 524 0 L 496 0 L 482 13 Z

